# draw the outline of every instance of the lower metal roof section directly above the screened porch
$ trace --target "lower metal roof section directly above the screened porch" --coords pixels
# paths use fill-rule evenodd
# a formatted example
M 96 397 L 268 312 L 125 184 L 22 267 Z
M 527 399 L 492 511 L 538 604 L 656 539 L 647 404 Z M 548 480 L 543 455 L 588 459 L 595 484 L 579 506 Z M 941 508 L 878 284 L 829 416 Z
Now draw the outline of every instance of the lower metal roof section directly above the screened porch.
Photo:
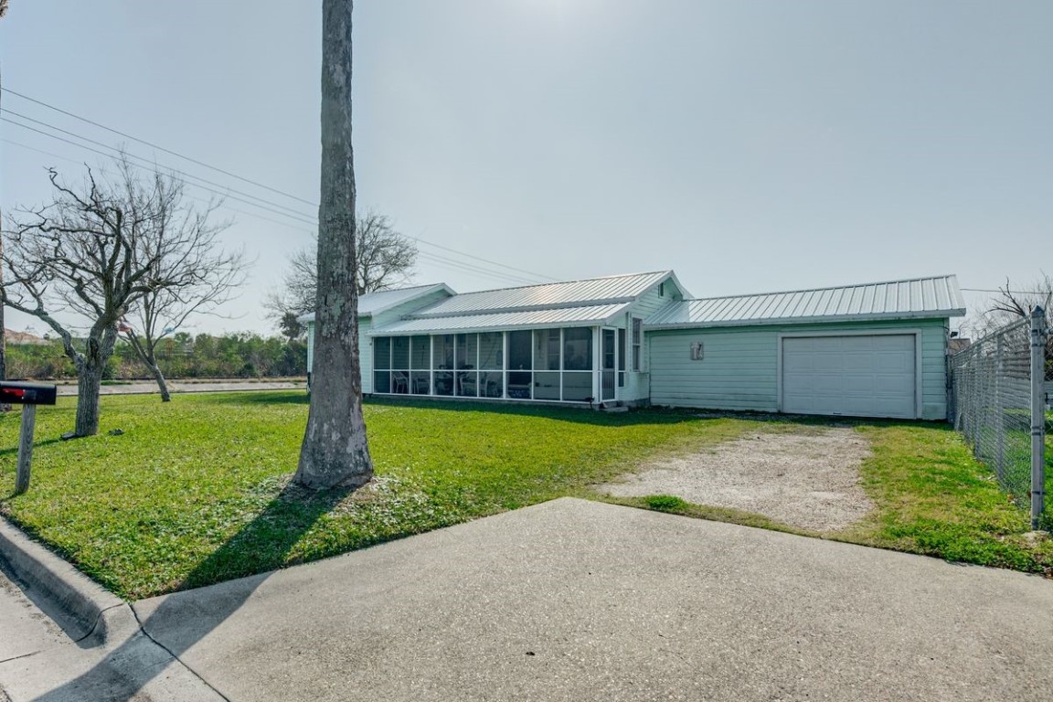
M 441 318 L 414 316 L 412 319 L 402 319 L 371 329 L 367 336 L 502 332 L 543 326 L 593 326 L 605 323 L 630 306 L 631 303 L 624 302 L 525 312 L 498 312 L 488 315 L 454 315 Z

